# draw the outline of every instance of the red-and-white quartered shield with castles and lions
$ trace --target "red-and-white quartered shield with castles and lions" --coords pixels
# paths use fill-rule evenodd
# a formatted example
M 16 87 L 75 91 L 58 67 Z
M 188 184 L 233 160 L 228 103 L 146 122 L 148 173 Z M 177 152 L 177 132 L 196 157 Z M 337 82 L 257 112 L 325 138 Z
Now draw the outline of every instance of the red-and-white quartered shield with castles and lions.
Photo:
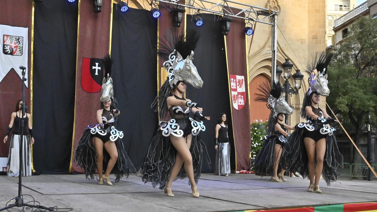
M 230 75 L 230 89 L 232 93 L 233 107 L 241 110 L 245 106 L 246 91 L 245 91 L 245 78 L 239 75 Z

